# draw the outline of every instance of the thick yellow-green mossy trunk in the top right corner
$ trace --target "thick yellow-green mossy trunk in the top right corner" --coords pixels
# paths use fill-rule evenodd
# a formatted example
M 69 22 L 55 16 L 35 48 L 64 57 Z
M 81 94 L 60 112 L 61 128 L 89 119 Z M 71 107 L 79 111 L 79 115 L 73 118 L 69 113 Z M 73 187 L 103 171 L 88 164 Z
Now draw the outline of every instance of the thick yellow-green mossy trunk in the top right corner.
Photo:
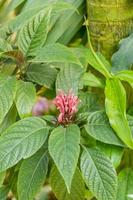
M 120 39 L 133 31 L 132 0 L 87 0 L 93 47 L 110 59 Z

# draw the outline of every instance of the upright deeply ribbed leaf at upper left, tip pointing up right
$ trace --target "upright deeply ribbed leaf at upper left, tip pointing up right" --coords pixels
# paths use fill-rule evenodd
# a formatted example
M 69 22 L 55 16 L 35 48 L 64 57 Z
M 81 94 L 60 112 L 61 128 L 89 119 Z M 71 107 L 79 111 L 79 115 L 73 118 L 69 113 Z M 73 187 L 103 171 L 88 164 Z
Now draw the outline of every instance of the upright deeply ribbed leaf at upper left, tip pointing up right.
M 19 49 L 26 56 L 35 56 L 36 52 L 44 45 L 51 17 L 51 9 L 40 11 L 28 21 L 20 30 L 18 38 Z

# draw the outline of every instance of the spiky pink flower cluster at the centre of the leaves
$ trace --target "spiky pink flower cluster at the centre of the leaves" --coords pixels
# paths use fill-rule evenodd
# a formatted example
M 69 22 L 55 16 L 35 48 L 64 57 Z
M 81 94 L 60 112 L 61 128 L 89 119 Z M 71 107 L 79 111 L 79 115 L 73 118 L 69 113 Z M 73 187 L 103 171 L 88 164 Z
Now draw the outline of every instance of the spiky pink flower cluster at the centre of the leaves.
M 61 91 L 55 98 L 54 103 L 60 111 L 58 122 L 60 124 L 71 123 L 74 119 L 75 113 L 77 112 L 77 105 L 79 103 L 78 97 L 75 96 L 72 91 L 68 94 Z

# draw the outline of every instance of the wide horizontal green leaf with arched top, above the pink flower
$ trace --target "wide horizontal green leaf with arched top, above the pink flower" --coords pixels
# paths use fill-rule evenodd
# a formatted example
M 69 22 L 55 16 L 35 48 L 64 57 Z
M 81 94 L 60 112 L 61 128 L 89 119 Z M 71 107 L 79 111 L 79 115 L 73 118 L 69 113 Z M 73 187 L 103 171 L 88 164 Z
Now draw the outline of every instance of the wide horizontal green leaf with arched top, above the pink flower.
M 78 58 L 71 51 L 71 48 L 58 43 L 42 47 L 32 62 L 74 63 L 82 66 Z

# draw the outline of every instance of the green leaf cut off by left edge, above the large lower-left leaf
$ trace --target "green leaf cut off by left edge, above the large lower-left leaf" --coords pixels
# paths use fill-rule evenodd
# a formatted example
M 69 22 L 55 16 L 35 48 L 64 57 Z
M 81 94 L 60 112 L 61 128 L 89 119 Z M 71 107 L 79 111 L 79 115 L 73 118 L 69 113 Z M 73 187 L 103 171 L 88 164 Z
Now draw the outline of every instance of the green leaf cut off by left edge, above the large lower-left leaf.
M 11 108 L 16 91 L 15 77 L 0 75 L 0 123 Z

